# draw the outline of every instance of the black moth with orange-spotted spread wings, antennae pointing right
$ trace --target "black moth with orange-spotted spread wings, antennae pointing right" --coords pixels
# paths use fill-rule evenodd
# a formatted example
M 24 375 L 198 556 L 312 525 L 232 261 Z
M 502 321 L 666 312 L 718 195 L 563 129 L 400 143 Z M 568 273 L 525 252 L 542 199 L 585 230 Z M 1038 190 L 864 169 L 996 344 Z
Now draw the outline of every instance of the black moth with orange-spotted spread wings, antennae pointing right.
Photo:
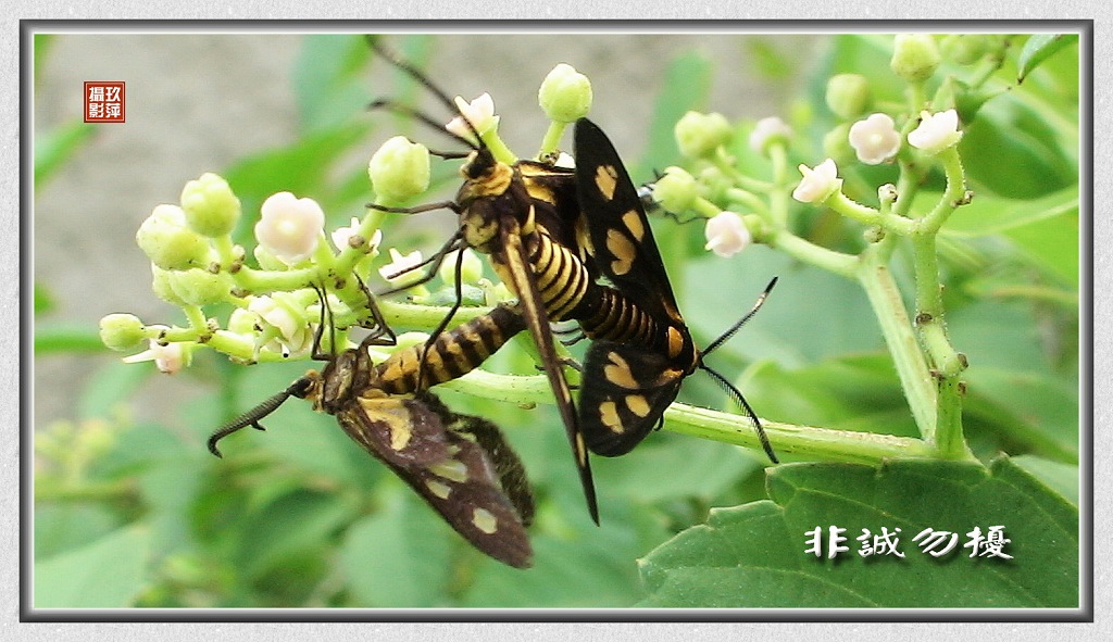
M 585 118 L 577 121 L 574 140 L 577 196 L 589 251 L 603 276 L 643 315 L 628 315 L 634 319 L 627 324 L 636 330 L 632 336 L 620 340 L 603 336 L 588 348 L 580 393 L 580 425 L 588 447 L 604 456 L 630 452 L 660 425 L 684 377 L 703 369 L 742 406 L 766 454 L 777 462 L 746 398 L 703 364 L 703 355 L 757 313 L 777 279 L 769 283 L 746 316 L 701 353 L 677 308 L 641 195 L 614 146 Z

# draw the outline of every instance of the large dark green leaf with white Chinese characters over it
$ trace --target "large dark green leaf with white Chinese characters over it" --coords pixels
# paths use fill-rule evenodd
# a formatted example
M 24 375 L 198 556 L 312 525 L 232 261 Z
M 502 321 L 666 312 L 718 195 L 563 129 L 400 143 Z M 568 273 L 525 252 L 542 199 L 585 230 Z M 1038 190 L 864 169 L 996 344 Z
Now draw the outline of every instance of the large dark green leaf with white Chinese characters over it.
M 641 563 L 650 595 L 674 608 L 1077 608 L 1078 513 L 1007 458 L 975 464 L 898 461 L 880 468 L 792 464 L 769 474 L 771 502 L 712 512 Z M 967 533 L 1004 526 L 1012 560 L 969 556 Z M 849 551 L 827 559 L 828 526 Z M 823 556 L 808 536 L 820 529 Z M 863 529 L 900 529 L 892 555 L 863 557 Z M 958 535 L 935 557 L 913 537 Z M 899 587 L 899 590 L 896 590 Z

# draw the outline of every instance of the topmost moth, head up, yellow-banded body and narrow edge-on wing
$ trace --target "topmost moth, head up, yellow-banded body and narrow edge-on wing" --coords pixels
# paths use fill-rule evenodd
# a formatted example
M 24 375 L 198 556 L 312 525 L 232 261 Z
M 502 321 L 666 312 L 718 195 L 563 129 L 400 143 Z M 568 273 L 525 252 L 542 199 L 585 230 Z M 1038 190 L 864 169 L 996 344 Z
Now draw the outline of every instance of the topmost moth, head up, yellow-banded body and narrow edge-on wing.
M 391 65 L 413 77 L 447 109 L 456 112 L 454 102 L 424 73 L 385 49 L 376 39 L 368 38 L 368 42 Z M 372 108 L 396 109 L 425 124 L 435 125 L 431 118 L 387 99 L 376 100 Z M 464 184 L 456 198 L 412 208 L 380 205 L 370 207 L 400 214 L 433 209 L 456 213 L 460 216 L 460 229 L 434 257 L 426 278 L 432 278 L 444 257 L 471 247 L 487 255 L 495 273 L 519 297 L 522 314 L 536 344 L 568 434 L 588 512 L 598 523 L 599 507 L 588 462 L 588 448 L 549 325 L 550 322 L 573 318 L 565 315 L 592 280 L 580 257 L 573 256 L 569 249 L 575 246 L 574 225 L 579 218 L 574 174 L 571 169 L 548 162 L 523 160 L 506 165 L 496 160 L 473 124 L 463 115 L 460 116 L 472 129 L 475 140 L 452 135 L 472 150 L 460 170 Z M 457 274 L 459 265 L 457 263 Z M 457 305 L 459 298 L 457 296 Z M 447 326 L 453 313 L 445 317 L 437 329 Z M 435 334 L 434 332 L 433 336 Z

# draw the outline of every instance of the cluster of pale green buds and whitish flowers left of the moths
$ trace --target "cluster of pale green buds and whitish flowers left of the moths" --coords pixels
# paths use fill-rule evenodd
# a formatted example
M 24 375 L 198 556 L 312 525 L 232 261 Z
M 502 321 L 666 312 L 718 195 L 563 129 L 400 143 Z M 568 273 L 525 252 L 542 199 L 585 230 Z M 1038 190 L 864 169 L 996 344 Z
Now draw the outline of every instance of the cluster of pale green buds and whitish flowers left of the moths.
M 572 67 L 558 65 L 538 99 L 553 124 L 563 126 L 587 115 L 591 85 Z M 455 101 L 460 115 L 445 128 L 469 140 L 479 136 L 496 157 L 509 158 L 498 139 L 491 96 Z M 386 140 L 367 164 L 375 201 L 394 207 L 429 189 L 430 156 L 423 145 L 404 137 Z M 135 353 L 127 363 L 152 360 L 160 371 L 175 373 L 203 346 L 242 362 L 304 357 L 313 349 L 322 296 L 337 317 L 363 318 L 365 310 L 357 308 L 371 304 L 361 284 L 373 274 L 371 263 L 383 244 L 382 211 L 351 217 L 326 236 L 326 213 L 316 200 L 274 194 L 263 201 L 252 227 L 250 257 L 257 268 L 247 265 L 248 251 L 233 240 L 242 214 L 239 199 L 216 174 L 189 181 L 178 204 L 157 206 L 139 226 L 136 241 L 150 258 L 155 293 L 183 308 L 188 327 L 145 325 L 135 315 L 112 314 L 100 323 L 105 345 Z M 426 280 L 420 250 L 391 247 L 388 257 L 378 276 L 394 289 L 407 289 L 414 302 L 437 303 L 423 285 L 414 287 Z M 447 257 L 441 279 L 452 285 L 457 271 L 467 300 L 493 305 L 510 296 L 504 286 L 483 278 L 483 261 L 471 250 Z M 233 307 L 223 327 L 204 310 L 217 304 Z

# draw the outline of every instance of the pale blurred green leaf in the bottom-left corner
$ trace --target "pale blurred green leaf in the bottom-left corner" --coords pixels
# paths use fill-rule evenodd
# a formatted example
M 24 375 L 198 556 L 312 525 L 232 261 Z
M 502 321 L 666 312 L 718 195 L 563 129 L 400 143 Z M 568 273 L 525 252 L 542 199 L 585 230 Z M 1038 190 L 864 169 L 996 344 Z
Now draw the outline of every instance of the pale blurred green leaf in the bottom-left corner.
M 150 533 L 129 526 L 35 564 L 37 609 L 124 609 L 144 589 Z

